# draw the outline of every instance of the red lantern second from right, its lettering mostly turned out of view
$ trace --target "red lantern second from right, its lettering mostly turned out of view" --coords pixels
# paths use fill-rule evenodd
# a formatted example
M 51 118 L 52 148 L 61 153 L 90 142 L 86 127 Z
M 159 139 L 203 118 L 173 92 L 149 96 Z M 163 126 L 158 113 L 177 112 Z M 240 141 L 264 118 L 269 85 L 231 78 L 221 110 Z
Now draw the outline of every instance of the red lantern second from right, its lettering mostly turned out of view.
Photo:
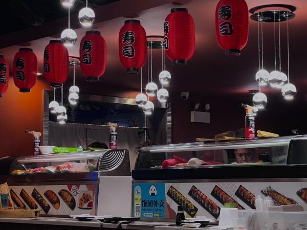
M 186 65 L 195 50 L 195 26 L 186 8 L 173 8 L 164 21 L 164 44 L 173 65 Z

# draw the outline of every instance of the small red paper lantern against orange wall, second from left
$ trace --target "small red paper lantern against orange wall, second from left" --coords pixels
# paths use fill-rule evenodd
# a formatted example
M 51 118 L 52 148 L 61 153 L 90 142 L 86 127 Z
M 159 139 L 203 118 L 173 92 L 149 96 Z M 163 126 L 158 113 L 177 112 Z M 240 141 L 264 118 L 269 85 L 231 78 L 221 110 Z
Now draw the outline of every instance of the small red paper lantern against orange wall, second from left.
M 15 54 L 13 78 L 19 92 L 28 93 L 37 81 L 37 57 L 30 48 L 20 48 Z

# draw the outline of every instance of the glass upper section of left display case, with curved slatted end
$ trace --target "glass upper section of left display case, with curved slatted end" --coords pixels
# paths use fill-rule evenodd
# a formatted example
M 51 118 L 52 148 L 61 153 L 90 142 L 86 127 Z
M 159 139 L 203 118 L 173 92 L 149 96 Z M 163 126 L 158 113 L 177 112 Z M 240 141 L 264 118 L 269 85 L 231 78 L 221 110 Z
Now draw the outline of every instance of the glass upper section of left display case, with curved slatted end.
M 99 172 L 100 175 L 129 175 L 130 168 L 127 164 L 129 164 L 127 150 L 55 153 L 17 157 L 10 166 L 9 174 Z

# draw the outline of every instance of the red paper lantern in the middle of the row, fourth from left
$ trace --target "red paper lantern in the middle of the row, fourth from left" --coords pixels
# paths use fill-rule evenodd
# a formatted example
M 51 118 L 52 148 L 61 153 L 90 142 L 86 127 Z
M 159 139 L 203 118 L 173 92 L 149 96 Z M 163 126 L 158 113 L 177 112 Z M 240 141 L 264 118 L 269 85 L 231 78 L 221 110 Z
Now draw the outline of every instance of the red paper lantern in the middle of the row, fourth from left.
M 81 72 L 86 81 L 99 81 L 106 66 L 106 43 L 99 31 L 86 31 L 79 53 Z

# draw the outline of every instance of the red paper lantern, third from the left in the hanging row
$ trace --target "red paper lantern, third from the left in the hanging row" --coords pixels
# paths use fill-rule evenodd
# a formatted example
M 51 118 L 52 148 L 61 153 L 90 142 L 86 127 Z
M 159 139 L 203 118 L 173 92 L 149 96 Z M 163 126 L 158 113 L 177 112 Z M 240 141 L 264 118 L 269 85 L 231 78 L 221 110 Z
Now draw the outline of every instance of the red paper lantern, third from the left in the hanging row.
M 51 87 L 60 87 L 68 78 L 68 50 L 60 40 L 50 40 L 43 52 L 43 76 Z

